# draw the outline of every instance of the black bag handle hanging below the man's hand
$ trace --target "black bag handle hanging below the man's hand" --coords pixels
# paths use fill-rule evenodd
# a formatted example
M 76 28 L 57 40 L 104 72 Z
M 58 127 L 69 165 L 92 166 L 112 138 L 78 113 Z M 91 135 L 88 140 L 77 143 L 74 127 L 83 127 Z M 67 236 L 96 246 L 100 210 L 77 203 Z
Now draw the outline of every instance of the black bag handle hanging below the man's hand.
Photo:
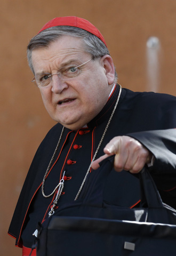
M 113 169 L 114 157 L 113 155 L 104 159 L 100 163 L 101 168 L 89 174 L 89 178 L 87 177 L 87 186 L 83 188 L 81 194 L 83 203 L 93 203 L 102 206 L 103 189 L 106 183 L 105 177 L 108 177 L 110 171 Z M 147 167 L 143 167 L 140 173 L 131 175 L 135 175 L 140 179 L 141 205 L 147 204 L 149 208 L 164 208 L 161 196 Z

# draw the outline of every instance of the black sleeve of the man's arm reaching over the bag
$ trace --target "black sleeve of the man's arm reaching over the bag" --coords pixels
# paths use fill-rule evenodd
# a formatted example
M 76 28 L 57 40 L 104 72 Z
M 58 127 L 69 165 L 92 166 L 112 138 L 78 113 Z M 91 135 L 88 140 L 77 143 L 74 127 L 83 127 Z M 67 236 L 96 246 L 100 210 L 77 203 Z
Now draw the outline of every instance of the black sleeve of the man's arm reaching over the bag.
M 150 173 L 162 197 L 176 197 L 176 129 L 127 134 L 140 141 L 155 156 Z M 172 203 L 170 203 L 172 205 Z M 176 204 L 173 206 L 175 207 Z

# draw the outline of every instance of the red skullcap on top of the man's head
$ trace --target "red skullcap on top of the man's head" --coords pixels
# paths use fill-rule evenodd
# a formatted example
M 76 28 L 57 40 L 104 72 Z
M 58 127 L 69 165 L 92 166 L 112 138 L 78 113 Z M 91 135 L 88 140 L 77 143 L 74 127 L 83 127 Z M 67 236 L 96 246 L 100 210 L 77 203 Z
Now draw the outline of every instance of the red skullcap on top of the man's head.
M 106 45 L 105 38 L 101 35 L 100 31 L 92 25 L 91 22 L 88 20 L 85 20 L 83 18 L 75 17 L 75 16 L 68 16 L 68 17 L 57 17 L 49 22 L 47 22 L 41 30 L 39 30 L 38 34 L 41 33 L 41 31 L 51 28 L 51 27 L 56 27 L 56 26 L 70 26 L 70 27 L 76 27 L 76 28 L 81 28 L 84 29 L 93 35 L 97 36 L 98 38 L 101 39 L 101 41 Z M 107 45 L 106 45 L 107 46 Z

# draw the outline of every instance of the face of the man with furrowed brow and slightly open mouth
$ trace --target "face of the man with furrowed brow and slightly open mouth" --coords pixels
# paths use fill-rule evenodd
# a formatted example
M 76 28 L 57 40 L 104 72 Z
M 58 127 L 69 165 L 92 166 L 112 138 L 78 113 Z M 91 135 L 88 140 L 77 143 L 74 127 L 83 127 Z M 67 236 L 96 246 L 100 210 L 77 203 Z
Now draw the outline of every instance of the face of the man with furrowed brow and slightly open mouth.
M 91 60 L 80 67 L 76 77 L 62 80 L 52 76 L 52 82 L 40 87 L 42 99 L 50 116 L 70 130 L 77 130 L 91 121 L 105 106 L 114 75 L 108 55 Z M 57 73 L 69 64 L 77 66 L 91 59 L 82 46 L 82 39 L 62 36 L 49 47 L 32 52 L 35 74 Z M 111 71 L 110 71 L 111 70 Z

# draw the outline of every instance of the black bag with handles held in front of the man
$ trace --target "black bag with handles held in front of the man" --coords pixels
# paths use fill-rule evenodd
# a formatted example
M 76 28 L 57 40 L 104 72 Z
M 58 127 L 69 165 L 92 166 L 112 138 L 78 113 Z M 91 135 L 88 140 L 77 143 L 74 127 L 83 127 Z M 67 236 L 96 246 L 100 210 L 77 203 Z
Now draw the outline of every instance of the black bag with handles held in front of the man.
M 147 207 L 103 202 L 111 163 L 103 161 L 94 172 L 83 201 L 62 207 L 38 229 L 37 256 L 176 255 L 176 211 L 162 202 L 147 169 L 140 173 L 141 205 Z

